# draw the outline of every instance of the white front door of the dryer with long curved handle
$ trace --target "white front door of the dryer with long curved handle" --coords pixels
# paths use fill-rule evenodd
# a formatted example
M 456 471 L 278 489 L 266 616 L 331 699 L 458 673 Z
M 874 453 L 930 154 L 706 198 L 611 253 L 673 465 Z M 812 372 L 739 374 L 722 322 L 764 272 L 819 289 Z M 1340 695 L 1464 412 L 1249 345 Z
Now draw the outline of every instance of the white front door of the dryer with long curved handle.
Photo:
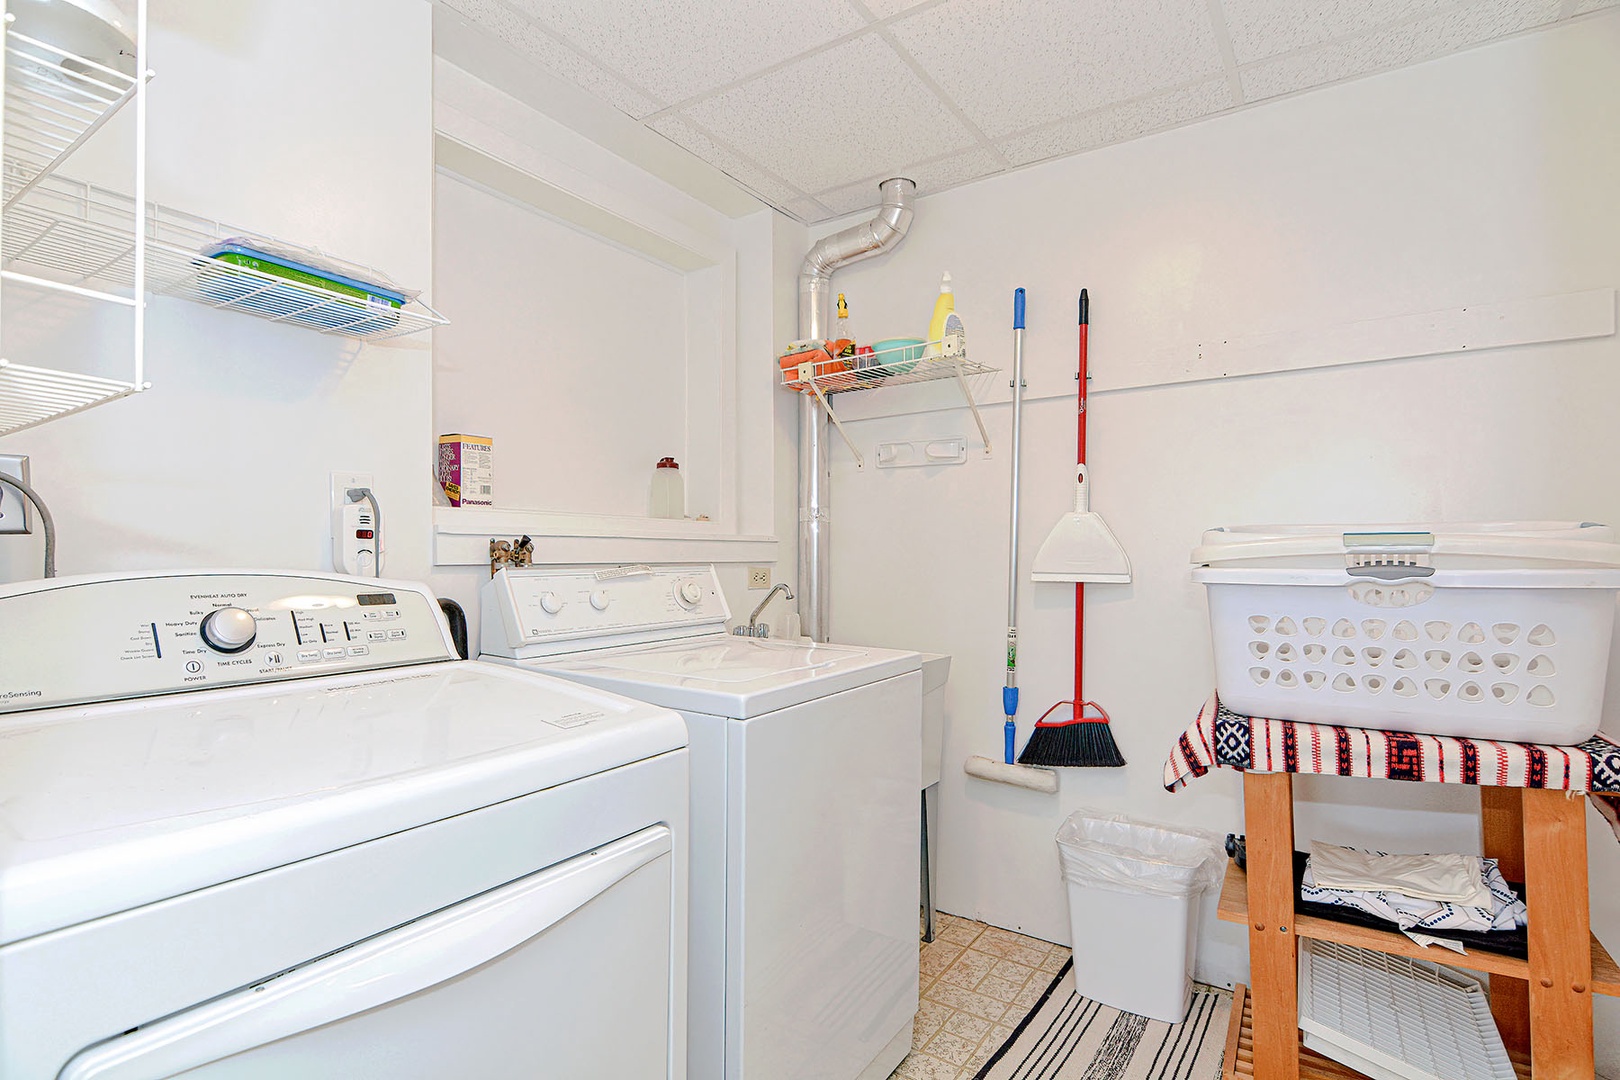
M 671 847 L 643 829 L 84 1049 L 60 1078 L 677 1075 Z

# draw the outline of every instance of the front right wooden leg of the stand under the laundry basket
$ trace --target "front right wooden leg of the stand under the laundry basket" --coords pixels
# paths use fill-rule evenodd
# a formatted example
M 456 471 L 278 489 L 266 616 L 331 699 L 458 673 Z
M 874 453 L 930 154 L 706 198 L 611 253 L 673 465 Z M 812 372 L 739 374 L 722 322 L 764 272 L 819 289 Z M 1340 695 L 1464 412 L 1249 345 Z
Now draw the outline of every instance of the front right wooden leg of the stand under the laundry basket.
M 1536 1080 L 1591 1080 L 1586 798 L 1534 789 L 1523 798 L 1531 1067 Z

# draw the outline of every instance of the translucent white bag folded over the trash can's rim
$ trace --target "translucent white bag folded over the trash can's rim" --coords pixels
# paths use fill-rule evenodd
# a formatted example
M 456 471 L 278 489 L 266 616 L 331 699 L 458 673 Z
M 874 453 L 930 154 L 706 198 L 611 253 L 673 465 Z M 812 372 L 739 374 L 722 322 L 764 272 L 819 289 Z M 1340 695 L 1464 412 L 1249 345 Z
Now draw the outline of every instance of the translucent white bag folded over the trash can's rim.
M 1071 884 L 1142 895 L 1191 897 L 1221 878 L 1221 837 L 1076 810 L 1058 827 L 1058 860 Z

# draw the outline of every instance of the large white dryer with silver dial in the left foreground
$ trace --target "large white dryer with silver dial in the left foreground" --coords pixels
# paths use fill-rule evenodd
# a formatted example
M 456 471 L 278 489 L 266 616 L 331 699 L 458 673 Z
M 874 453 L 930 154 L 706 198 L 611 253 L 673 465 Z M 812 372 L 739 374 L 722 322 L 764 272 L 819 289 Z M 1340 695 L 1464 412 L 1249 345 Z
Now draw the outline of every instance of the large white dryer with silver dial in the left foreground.
M 421 586 L 3 586 L 0 1078 L 684 1077 L 685 742 Z

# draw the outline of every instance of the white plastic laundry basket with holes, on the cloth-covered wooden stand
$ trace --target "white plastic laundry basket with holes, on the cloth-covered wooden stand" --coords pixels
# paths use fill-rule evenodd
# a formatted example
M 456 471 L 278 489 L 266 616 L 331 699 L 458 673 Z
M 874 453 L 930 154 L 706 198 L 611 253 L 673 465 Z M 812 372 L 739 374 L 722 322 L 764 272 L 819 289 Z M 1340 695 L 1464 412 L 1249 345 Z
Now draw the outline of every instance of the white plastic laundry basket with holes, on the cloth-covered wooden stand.
M 1238 712 L 1560 745 L 1597 730 L 1620 591 L 1607 526 L 1226 528 L 1192 562 Z

